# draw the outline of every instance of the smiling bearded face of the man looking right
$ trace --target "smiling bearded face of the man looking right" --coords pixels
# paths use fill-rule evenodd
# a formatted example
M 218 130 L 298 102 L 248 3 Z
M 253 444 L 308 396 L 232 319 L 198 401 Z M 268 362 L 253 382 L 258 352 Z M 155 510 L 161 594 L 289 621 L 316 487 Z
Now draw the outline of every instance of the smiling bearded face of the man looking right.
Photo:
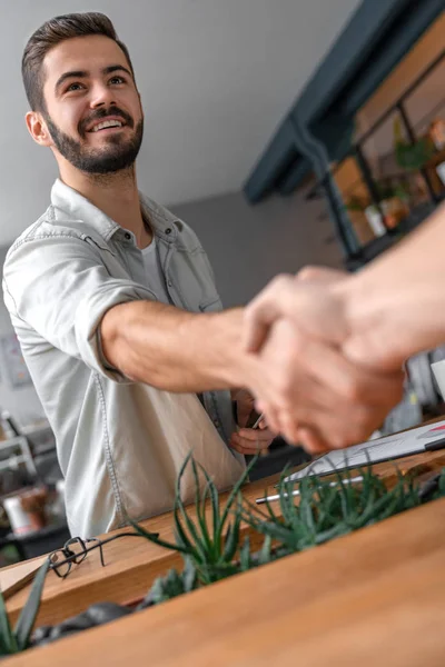
M 130 67 L 102 36 L 66 40 L 43 61 L 44 122 L 52 148 L 88 173 L 130 167 L 139 152 L 144 115 Z

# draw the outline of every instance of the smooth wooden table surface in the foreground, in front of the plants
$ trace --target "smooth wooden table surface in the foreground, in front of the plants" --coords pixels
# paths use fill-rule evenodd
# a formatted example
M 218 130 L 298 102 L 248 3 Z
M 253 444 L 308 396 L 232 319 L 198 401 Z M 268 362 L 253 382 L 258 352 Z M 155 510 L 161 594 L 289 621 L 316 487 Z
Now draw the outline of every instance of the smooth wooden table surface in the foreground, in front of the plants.
M 444 521 L 445 499 L 8 665 L 442 667 Z

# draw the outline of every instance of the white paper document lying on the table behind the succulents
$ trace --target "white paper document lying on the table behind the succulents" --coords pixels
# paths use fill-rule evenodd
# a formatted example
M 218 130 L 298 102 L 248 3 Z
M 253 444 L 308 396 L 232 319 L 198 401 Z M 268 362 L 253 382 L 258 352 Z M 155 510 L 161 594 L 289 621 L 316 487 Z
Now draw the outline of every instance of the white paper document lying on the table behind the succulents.
M 445 420 L 421 426 L 403 434 L 395 434 L 378 440 L 367 440 L 346 449 L 337 449 L 308 464 L 286 480 L 301 479 L 310 475 L 329 475 L 334 470 L 357 468 L 390 459 L 419 454 L 428 449 L 445 449 Z

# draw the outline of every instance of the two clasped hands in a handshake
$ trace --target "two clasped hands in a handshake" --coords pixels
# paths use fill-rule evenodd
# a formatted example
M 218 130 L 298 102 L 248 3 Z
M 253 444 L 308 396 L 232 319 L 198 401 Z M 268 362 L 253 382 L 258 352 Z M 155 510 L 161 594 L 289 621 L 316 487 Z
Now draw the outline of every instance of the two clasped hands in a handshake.
M 246 307 L 243 345 L 259 362 L 249 389 L 271 430 L 318 454 L 382 425 L 402 399 L 409 354 L 382 302 L 359 276 L 307 268 Z

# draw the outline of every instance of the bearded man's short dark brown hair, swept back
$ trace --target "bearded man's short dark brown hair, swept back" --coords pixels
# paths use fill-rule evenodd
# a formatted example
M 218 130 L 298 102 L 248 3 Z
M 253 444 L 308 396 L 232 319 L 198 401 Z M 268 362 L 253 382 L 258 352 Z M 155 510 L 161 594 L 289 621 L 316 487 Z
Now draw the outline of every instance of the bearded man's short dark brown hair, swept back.
M 110 19 L 99 12 L 70 13 L 50 19 L 38 28 L 24 47 L 21 61 L 21 74 L 28 101 L 33 111 L 46 109 L 43 98 L 43 59 L 48 51 L 67 39 L 103 34 L 112 39 L 123 51 L 134 73 L 130 54 L 123 42 L 118 39 Z

